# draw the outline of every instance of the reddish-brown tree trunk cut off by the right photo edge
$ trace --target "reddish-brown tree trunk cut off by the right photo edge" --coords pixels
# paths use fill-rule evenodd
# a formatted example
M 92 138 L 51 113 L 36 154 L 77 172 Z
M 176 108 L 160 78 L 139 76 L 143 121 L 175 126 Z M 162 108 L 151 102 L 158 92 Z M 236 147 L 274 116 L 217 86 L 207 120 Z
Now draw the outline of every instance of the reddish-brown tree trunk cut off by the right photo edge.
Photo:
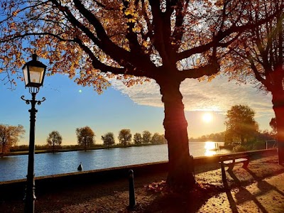
M 278 160 L 279 163 L 284 163 L 284 91 L 278 89 L 271 94 L 277 126 Z

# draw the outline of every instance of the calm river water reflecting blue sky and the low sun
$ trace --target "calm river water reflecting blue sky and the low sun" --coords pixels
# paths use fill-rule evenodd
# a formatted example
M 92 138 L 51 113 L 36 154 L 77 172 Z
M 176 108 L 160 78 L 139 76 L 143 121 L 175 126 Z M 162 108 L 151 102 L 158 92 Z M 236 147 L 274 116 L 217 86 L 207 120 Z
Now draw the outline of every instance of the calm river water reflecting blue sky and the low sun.
M 225 149 L 212 151 L 223 142 L 190 142 L 193 157 L 229 153 Z M 168 160 L 168 145 L 110 148 L 94 151 L 42 153 L 35 155 L 35 177 L 77 172 L 82 162 L 83 170 L 114 168 L 124 165 L 153 163 Z M 0 182 L 26 178 L 28 155 L 0 158 Z

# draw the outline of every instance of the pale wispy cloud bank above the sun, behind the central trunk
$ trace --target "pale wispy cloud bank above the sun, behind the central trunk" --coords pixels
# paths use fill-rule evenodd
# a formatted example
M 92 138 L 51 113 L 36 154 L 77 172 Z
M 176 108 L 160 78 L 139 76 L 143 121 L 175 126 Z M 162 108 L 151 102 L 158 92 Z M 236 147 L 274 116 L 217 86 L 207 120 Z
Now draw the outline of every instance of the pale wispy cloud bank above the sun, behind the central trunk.
M 117 81 L 112 81 L 111 84 L 115 89 L 129 96 L 136 104 L 163 107 L 160 88 L 155 81 L 130 88 Z M 224 113 L 233 105 L 246 104 L 256 111 L 256 116 L 273 116 L 271 94 L 259 92 L 252 84 L 239 85 L 234 81 L 228 82 L 224 76 L 219 76 L 212 82 L 185 80 L 180 86 L 180 91 L 186 111 Z

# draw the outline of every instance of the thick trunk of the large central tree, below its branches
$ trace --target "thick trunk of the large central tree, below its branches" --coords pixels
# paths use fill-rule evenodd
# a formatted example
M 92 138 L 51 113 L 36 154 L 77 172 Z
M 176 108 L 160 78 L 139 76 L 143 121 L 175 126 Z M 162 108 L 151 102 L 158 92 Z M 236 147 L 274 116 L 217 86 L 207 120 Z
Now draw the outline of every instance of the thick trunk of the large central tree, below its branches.
M 190 158 L 187 121 L 185 119 L 180 82 L 165 80 L 160 94 L 165 107 L 165 138 L 168 141 L 169 171 L 167 183 L 173 187 L 192 187 L 195 183 L 193 160 Z

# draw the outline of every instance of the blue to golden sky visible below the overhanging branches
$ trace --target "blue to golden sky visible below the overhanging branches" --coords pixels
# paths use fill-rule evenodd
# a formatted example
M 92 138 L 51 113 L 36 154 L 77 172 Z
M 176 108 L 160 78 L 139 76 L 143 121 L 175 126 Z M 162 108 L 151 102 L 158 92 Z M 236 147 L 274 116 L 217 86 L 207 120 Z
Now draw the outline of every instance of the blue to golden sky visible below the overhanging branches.
M 107 132 L 113 132 L 118 143 L 117 136 L 121 129 L 130 129 L 132 135 L 145 130 L 164 133 L 163 103 L 155 81 L 133 87 L 126 87 L 116 80 L 112 80 L 111 84 L 102 94 L 97 94 L 92 87 L 79 86 L 66 75 L 45 77 L 43 87 L 36 96 L 37 100 L 45 97 L 46 101 L 35 107 L 38 109 L 35 144 L 45 144 L 51 131 L 59 131 L 62 145 L 77 144 L 75 129 L 84 126 L 94 131 L 97 144 L 102 143 L 101 136 Z M 9 84 L 0 82 L 0 124 L 23 125 L 26 133 L 18 145 L 28 144 L 28 109 L 31 105 L 23 102 L 21 96 L 31 99 L 31 94 L 21 81 L 17 81 L 15 89 L 9 87 Z M 180 91 L 189 137 L 225 131 L 226 111 L 236 104 L 251 107 L 256 111 L 255 119 L 260 129 L 271 130 L 269 121 L 274 117 L 271 94 L 259 92 L 251 84 L 239 85 L 219 76 L 212 82 L 185 80 Z M 211 115 L 211 120 L 203 119 L 206 113 Z

